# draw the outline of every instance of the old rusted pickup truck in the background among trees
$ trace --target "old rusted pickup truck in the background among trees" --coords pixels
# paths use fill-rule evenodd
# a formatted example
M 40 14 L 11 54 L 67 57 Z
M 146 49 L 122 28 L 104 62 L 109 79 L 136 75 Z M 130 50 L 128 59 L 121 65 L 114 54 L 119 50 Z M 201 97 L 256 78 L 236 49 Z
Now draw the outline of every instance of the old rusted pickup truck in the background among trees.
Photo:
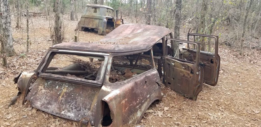
M 87 4 L 77 29 L 98 29 L 98 34 L 105 35 L 121 24 L 124 24 L 121 10 L 116 10 L 115 19 L 113 8 L 99 4 Z

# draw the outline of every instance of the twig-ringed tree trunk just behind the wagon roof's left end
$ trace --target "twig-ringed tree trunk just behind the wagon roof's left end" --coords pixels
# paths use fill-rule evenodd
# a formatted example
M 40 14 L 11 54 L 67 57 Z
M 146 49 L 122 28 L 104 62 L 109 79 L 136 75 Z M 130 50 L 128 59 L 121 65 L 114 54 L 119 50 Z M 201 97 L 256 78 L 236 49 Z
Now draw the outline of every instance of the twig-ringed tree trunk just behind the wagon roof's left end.
M 61 35 L 61 0 L 55 1 L 55 26 L 54 26 L 54 34 L 55 40 L 53 45 L 62 43 L 62 35 Z

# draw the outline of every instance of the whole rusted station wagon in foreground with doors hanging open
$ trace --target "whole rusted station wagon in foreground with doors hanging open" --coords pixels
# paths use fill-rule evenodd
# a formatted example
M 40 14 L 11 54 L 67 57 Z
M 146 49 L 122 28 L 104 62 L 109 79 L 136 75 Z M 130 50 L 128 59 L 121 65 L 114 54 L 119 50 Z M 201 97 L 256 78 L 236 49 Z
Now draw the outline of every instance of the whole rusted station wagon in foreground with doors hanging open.
M 154 101 L 162 100 L 161 77 L 194 100 L 203 82 L 217 84 L 218 37 L 189 36 L 213 37 L 215 53 L 200 51 L 200 43 L 173 39 L 167 28 L 138 24 L 121 25 L 98 42 L 54 45 L 36 70 L 15 78 L 16 97 L 83 124 L 136 125 Z M 174 43 L 181 47 L 178 57 Z

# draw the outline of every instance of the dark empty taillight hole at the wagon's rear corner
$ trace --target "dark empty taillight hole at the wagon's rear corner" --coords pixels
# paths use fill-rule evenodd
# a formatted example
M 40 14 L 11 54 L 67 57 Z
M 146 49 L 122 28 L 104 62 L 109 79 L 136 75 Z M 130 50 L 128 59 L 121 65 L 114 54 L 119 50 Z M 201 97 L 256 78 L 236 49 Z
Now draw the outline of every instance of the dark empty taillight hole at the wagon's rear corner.
M 108 103 L 106 103 L 105 101 L 102 100 L 102 126 L 109 126 L 112 123 L 112 119 L 111 119 L 111 115 L 110 115 L 111 111 L 109 108 Z

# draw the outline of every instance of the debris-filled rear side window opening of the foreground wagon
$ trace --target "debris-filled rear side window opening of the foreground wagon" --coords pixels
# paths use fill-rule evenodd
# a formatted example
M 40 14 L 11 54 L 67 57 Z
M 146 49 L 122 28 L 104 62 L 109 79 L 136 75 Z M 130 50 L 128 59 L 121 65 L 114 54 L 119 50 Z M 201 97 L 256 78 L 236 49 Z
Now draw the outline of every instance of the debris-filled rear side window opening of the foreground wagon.
M 151 56 L 145 53 L 114 56 L 112 58 L 109 82 L 121 82 L 135 77 L 154 68 L 153 65 Z

